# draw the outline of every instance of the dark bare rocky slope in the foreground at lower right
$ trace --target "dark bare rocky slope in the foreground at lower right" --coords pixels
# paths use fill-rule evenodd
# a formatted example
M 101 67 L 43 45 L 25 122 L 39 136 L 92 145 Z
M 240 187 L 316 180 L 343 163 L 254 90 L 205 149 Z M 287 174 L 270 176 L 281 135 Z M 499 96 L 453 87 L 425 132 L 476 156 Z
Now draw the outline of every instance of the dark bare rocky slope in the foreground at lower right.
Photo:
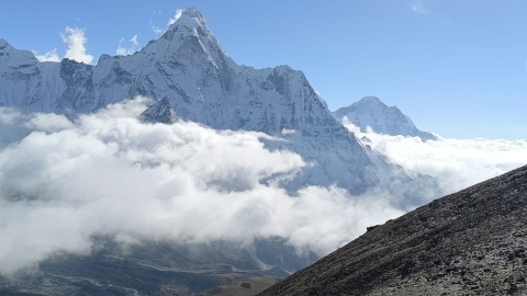
M 526 295 L 527 167 L 378 226 L 260 295 Z

